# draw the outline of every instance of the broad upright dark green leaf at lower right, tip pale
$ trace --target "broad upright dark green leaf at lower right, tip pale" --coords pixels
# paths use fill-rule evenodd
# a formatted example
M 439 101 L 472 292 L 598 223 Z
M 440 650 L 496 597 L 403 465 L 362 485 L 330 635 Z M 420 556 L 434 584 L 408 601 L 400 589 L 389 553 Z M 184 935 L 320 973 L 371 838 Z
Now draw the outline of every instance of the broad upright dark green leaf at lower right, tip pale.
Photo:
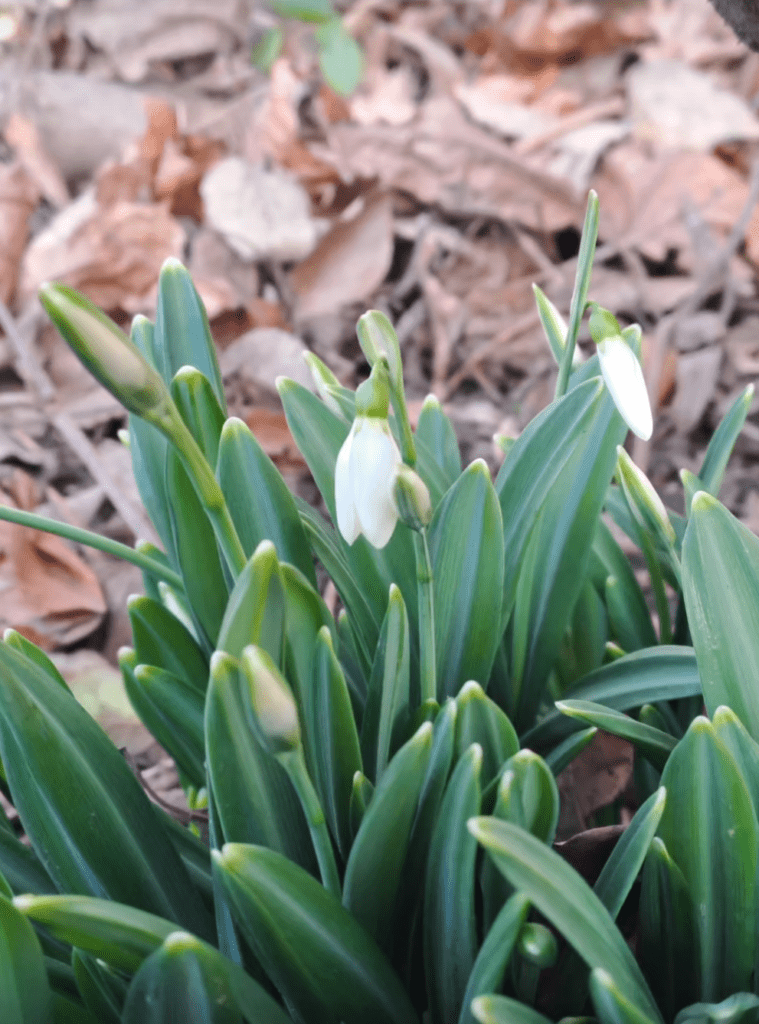
M 662 775 L 660 835 L 698 907 L 701 996 L 746 989 L 756 947 L 757 820 L 727 748 L 695 718 Z

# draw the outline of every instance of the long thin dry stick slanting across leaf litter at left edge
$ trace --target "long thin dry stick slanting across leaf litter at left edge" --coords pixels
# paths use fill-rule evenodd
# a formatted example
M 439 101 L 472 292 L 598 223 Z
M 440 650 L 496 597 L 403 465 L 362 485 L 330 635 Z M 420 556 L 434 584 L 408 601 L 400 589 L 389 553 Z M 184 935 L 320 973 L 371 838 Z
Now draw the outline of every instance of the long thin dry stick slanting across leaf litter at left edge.
M 5 336 L 15 353 L 18 375 L 25 384 L 37 393 L 49 421 L 102 487 L 109 501 L 132 531 L 134 538 L 147 536 L 152 540 L 155 539 L 152 524 L 116 486 L 84 431 L 74 423 L 68 413 L 54 413 L 47 408 L 48 402 L 55 395 L 55 387 L 39 362 L 34 350 L 18 330 L 8 307 L 2 301 L 0 301 L 0 327 L 5 332 Z

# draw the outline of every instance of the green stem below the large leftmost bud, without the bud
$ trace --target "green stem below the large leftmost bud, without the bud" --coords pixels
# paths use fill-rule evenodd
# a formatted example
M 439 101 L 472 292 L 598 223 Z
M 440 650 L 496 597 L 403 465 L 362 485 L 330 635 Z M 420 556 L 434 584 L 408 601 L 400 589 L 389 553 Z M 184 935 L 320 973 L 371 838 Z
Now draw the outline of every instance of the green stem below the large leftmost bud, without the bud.
M 150 418 L 150 422 L 155 423 L 176 449 L 213 527 L 229 571 L 237 580 L 248 559 L 231 521 L 224 494 L 200 445 L 170 399 Z

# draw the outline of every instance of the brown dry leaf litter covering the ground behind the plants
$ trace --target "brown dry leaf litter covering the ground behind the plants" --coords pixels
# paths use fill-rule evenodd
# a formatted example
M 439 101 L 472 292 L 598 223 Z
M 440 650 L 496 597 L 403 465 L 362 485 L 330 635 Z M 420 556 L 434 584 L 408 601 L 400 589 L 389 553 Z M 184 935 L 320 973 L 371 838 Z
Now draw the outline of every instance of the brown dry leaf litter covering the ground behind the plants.
M 310 349 L 354 386 L 369 307 L 397 326 L 412 408 L 433 391 L 465 457 L 495 468 L 493 435 L 518 434 L 552 397 L 532 285 L 566 313 L 593 187 L 592 294 L 641 324 L 657 406 L 634 456 L 680 511 L 679 469 L 698 470 L 759 374 L 759 57 L 708 0 L 338 6 L 366 55 L 348 97 L 295 23 L 269 75 L 252 66 L 272 24 L 252 0 L 19 8 L 0 41 L 3 500 L 150 536 L 124 482 L 123 416 L 35 295 L 65 281 L 126 325 L 155 313 L 170 255 L 208 307 L 231 412 L 292 486 L 311 497 L 273 378 L 307 381 Z M 755 530 L 757 462 L 755 398 L 722 490 Z M 6 625 L 113 665 L 139 574 L 8 524 L 0 551 Z M 128 733 L 107 664 L 87 672 L 106 673 L 112 717 L 93 713 L 109 728 L 123 713 Z M 624 799 L 629 752 L 599 739 L 573 772 L 570 830 Z

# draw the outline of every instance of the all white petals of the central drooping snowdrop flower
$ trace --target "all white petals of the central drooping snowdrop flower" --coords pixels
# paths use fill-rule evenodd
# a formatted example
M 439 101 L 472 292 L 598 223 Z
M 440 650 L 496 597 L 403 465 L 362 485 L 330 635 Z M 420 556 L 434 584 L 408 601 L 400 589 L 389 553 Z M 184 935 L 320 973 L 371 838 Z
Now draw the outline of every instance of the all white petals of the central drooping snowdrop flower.
M 335 467 L 337 525 L 348 544 L 366 537 L 384 548 L 398 520 L 392 498 L 400 453 L 387 420 L 357 416 Z

